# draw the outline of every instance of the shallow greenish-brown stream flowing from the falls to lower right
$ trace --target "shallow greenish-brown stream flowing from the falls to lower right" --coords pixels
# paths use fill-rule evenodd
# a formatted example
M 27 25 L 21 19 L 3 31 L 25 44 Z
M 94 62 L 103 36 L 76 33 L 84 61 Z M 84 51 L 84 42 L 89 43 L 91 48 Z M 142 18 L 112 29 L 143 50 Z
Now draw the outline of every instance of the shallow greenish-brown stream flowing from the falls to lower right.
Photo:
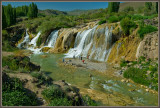
M 146 92 L 140 85 L 121 82 L 120 78 L 111 77 L 101 72 L 85 68 L 68 68 L 58 65 L 63 54 L 32 54 L 31 62 L 40 65 L 41 71 L 53 80 L 65 80 L 99 102 L 100 106 L 157 106 L 158 94 Z M 92 77 L 90 76 L 92 75 Z M 130 89 L 136 89 L 130 91 Z

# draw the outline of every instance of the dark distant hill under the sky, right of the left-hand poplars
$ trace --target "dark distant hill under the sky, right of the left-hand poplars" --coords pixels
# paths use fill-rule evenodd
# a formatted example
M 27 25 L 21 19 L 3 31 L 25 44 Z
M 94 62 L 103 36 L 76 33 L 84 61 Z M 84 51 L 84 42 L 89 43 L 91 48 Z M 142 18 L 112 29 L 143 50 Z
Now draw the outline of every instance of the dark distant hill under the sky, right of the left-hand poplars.
M 64 11 L 52 10 L 52 9 L 38 10 L 38 13 L 41 13 L 44 15 L 60 15 L 60 14 L 67 15 L 67 13 Z

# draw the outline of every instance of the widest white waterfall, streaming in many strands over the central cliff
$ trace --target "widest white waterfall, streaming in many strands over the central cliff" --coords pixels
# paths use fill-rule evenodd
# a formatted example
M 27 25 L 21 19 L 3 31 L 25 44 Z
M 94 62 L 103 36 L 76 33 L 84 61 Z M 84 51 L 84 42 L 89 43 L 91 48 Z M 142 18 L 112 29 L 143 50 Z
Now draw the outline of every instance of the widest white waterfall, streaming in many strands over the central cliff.
M 106 61 L 108 59 L 108 54 L 111 51 L 113 28 L 111 27 L 111 29 L 109 29 L 106 27 L 106 29 L 96 29 L 97 26 L 83 32 L 78 32 L 74 48 L 69 50 L 69 52 L 66 54 L 66 58 L 72 58 L 73 56 L 87 57 L 87 55 L 89 55 L 89 50 L 91 50 L 89 59 Z M 96 41 L 94 38 L 97 36 L 95 35 L 95 31 L 97 31 L 98 34 L 105 34 L 104 44 L 98 48 L 95 47 Z

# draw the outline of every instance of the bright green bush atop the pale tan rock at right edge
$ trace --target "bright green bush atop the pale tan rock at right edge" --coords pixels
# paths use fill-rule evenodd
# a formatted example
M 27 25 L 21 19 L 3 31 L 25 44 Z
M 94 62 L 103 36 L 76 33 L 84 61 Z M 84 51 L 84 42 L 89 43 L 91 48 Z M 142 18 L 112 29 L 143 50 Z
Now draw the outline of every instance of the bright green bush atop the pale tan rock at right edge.
M 138 30 L 138 34 L 139 34 L 139 37 L 143 39 L 145 34 L 151 33 L 157 30 L 158 30 L 157 27 L 154 27 L 152 25 L 144 25 L 144 26 L 140 26 L 140 29 Z

